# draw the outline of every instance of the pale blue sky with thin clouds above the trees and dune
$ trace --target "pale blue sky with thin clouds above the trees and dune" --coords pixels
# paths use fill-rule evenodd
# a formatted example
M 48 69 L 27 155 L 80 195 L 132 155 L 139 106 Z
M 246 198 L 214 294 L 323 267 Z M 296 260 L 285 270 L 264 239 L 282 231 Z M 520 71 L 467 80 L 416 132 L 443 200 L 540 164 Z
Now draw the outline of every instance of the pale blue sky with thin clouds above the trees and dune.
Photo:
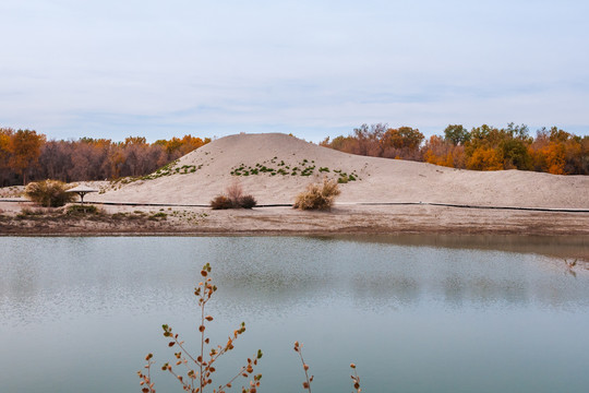
M 589 134 L 586 0 L 0 0 L 0 127 L 49 139 L 362 123 Z

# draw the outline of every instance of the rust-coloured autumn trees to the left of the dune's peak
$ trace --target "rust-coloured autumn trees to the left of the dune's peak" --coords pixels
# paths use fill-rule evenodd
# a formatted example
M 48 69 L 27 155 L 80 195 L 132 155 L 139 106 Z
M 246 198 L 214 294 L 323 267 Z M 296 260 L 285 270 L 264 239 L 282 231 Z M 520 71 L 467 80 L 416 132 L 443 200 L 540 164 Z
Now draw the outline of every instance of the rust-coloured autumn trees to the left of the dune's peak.
M 32 180 L 65 182 L 144 176 L 211 142 L 192 135 L 147 143 L 143 136 L 124 142 L 82 138 L 47 140 L 33 130 L 0 128 L 0 187 Z

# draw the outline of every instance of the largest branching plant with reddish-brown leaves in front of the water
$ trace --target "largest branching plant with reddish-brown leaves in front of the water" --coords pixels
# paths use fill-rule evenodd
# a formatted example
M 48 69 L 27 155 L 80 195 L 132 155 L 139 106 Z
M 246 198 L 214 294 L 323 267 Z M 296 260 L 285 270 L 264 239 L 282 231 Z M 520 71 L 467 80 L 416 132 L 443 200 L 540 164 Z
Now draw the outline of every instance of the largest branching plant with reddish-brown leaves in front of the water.
M 163 325 L 164 336 L 170 338 L 168 343 L 169 347 L 178 346 L 179 352 L 175 353 L 176 362 L 175 366 L 185 368 L 185 377 L 181 376 L 169 362 L 161 366 L 161 370 L 170 372 L 182 385 L 182 390 L 191 393 L 203 393 L 205 388 L 213 384 L 213 374 L 216 371 L 215 361 L 229 350 L 233 349 L 233 342 L 245 332 L 245 322 L 241 322 L 239 329 L 233 331 L 227 340 L 227 344 L 217 345 L 216 348 L 211 347 L 209 350 L 205 348 L 209 345 L 209 338 L 205 336 L 206 322 L 213 321 L 213 317 L 206 314 L 205 306 L 211 300 L 213 294 L 217 290 L 217 286 L 213 285 L 208 277 L 211 273 L 211 265 L 207 263 L 203 266 L 201 275 L 205 278 L 204 282 L 199 283 L 199 286 L 194 288 L 194 295 L 199 298 L 199 306 L 201 307 L 201 325 L 199 332 L 201 333 L 201 352 L 200 354 L 191 354 L 184 347 L 184 342 L 178 336 L 178 333 L 173 333 L 172 329 L 167 324 Z M 257 354 L 248 359 L 248 362 L 241 367 L 236 376 L 225 384 L 220 384 L 217 389 L 213 389 L 214 393 L 224 393 L 227 389 L 232 386 L 232 383 L 240 377 L 250 379 L 249 386 L 242 386 L 243 393 L 255 393 L 260 386 L 260 380 L 262 374 L 253 374 L 253 368 L 257 365 L 257 360 L 262 358 L 262 350 L 257 349 Z M 154 365 L 153 355 L 148 354 L 145 357 L 147 365 L 145 365 L 145 373 L 137 371 L 137 376 L 141 378 L 141 385 L 144 386 L 142 392 L 155 393 L 154 382 L 151 377 L 151 369 Z

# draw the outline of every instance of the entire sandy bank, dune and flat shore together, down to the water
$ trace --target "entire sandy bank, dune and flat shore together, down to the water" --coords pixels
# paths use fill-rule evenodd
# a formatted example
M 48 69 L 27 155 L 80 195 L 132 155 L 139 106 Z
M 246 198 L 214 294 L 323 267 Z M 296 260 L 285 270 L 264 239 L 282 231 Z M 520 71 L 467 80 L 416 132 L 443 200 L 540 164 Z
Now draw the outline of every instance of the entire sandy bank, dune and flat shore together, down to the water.
M 262 170 L 264 167 L 267 171 Z M 324 177 L 346 178 L 344 174 L 348 180 L 350 175 L 356 180 L 340 184 L 341 195 L 330 212 L 301 212 L 284 206 L 253 211 L 199 207 L 208 205 L 215 195 L 236 181 L 259 204 L 291 204 L 308 183 L 321 181 Z M 11 224 L 7 224 L 4 219 L 0 222 L 0 230 L 3 234 L 589 235 L 589 213 L 510 210 L 589 211 L 587 176 L 519 170 L 481 172 L 357 156 L 285 134 L 226 136 L 185 155 L 168 172 L 154 174 L 152 179 L 98 186 L 101 192 L 88 194 L 86 200 L 106 203 L 103 207 L 109 213 L 145 212 L 149 215 L 161 212 L 167 214 L 167 219 L 145 223 L 127 219 L 108 224 L 88 221 L 68 224 L 59 221 L 19 224 L 10 221 Z M 420 202 L 424 204 L 392 204 Z M 19 209 L 17 203 L 0 202 L 0 211 L 4 211 L 4 215 Z

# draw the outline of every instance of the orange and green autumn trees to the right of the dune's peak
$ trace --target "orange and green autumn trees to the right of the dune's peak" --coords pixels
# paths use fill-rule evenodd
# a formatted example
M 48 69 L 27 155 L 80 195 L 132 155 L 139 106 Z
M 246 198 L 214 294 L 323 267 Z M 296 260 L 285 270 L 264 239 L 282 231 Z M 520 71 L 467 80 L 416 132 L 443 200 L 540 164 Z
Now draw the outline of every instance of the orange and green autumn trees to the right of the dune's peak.
M 519 169 L 554 175 L 589 175 L 589 136 L 556 127 L 531 136 L 527 126 L 495 128 L 483 124 L 468 131 L 450 124 L 444 135 L 429 140 L 411 127 L 362 124 L 348 136 L 329 138 L 322 146 L 374 157 L 411 159 L 471 170 Z

